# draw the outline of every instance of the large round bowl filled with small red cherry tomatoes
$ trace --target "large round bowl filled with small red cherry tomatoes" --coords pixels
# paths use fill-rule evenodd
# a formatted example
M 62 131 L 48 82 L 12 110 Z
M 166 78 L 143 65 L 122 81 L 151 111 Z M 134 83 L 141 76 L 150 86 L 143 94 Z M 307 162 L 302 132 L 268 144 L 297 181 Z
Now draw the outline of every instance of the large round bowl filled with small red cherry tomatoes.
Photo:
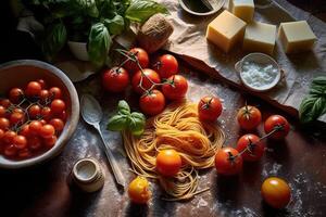
M 79 119 L 79 100 L 59 68 L 40 61 L 0 65 L 0 167 L 22 168 L 61 153 Z

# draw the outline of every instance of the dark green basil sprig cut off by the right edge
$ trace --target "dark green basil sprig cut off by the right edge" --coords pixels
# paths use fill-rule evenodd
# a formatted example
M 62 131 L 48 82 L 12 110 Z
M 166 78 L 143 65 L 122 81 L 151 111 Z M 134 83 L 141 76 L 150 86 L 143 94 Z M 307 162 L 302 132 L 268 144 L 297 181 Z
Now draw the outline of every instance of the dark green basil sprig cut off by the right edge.
M 326 113 L 326 76 L 313 79 L 309 95 L 300 104 L 299 116 L 302 123 L 310 123 Z

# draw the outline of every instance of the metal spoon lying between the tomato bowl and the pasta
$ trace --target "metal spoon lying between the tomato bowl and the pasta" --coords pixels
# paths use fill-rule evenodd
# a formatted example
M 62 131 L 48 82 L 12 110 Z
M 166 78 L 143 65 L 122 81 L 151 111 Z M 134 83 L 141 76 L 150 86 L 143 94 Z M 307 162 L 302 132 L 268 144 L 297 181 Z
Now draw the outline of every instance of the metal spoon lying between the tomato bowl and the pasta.
M 98 130 L 99 135 L 101 136 L 101 139 L 103 142 L 100 142 L 100 143 L 102 144 L 104 153 L 111 165 L 115 181 L 122 188 L 124 188 L 125 187 L 125 178 L 123 176 L 123 173 L 122 173 L 114 155 L 112 154 L 109 143 L 104 140 L 103 135 L 101 132 L 100 122 L 102 119 L 103 112 L 102 112 L 102 108 L 101 108 L 99 102 L 92 95 L 84 94 L 82 97 L 80 103 L 82 103 L 82 116 L 83 116 L 84 120 L 87 124 L 93 126 L 93 128 L 96 128 Z

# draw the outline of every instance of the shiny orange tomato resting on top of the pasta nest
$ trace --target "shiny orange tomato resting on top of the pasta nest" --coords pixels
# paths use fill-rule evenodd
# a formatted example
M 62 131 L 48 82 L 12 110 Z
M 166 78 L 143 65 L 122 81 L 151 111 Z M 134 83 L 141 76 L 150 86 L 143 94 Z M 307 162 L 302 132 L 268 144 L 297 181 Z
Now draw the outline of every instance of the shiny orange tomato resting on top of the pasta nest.
M 156 169 L 166 177 L 175 176 L 181 168 L 181 157 L 173 149 L 161 150 L 156 156 Z

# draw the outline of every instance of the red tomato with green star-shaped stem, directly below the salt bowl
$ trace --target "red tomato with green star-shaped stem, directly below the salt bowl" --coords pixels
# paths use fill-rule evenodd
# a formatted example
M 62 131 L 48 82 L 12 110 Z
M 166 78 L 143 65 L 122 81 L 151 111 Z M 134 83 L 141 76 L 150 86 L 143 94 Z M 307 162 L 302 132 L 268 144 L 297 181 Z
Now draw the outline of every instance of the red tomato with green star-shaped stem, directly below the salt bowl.
M 262 114 L 255 106 L 246 105 L 239 110 L 237 119 L 242 129 L 252 130 L 262 122 Z

